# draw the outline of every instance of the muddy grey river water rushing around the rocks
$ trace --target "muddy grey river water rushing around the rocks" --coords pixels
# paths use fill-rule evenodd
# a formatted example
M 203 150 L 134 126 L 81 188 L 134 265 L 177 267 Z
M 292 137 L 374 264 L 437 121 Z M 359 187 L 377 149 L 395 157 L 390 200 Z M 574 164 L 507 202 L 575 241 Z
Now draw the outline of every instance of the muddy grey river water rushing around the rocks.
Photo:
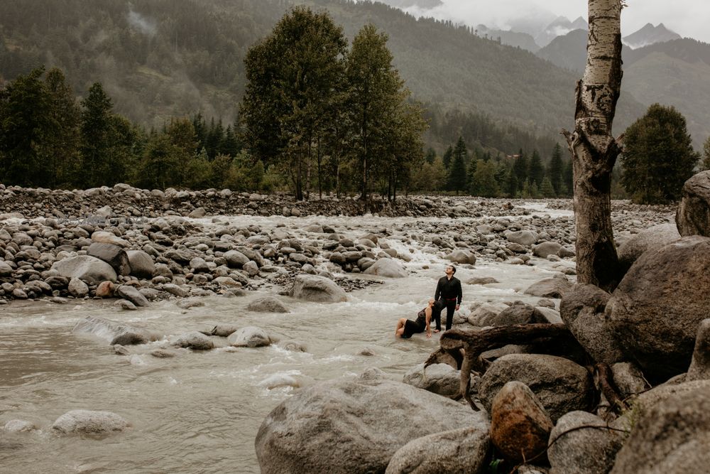
M 378 217 L 224 220 L 262 228 L 320 222 L 340 226 L 351 237 L 407 221 Z M 446 220 L 440 222 L 445 229 Z M 382 279 L 384 284 L 349 293 L 345 303 L 309 303 L 280 296 L 290 308 L 284 314 L 245 310 L 253 299 L 277 290 L 268 287 L 239 298 L 205 297 L 204 306 L 188 310 L 178 308 L 177 301 L 153 303 L 140 311 L 120 311 L 107 301 L 0 306 L 0 426 L 11 419 L 38 426 L 31 433 L 0 431 L 0 472 L 258 473 L 254 451 L 258 427 L 298 386 L 349 377 L 367 367 L 378 367 L 401 380 L 438 347 L 438 335 L 431 340 L 424 335 L 395 340 L 393 333 L 398 318 L 415 318 L 432 296 L 446 261 L 440 254 L 422 252 L 414 241 L 388 242 L 410 253 L 412 261 L 405 264 L 408 277 Z M 457 277 L 465 282 L 474 276 L 492 276 L 500 283 L 464 284 L 461 311 L 468 311 L 474 301 L 537 301 L 522 291 L 552 274 L 552 264 L 545 260 L 525 266 L 479 259 L 475 268 L 459 269 Z M 72 327 L 85 316 L 153 328 L 165 338 L 133 346 L 131 355 L 116 355 L 105 340 L 72 334 Z M 229 348 L 219 338 L 215 342 L 222 347 L 207 352 L 170 348 L 170 340 L 178 335 L 209 330 L 216 324 L 256 325 L 280 340 L 305 344 L 307 352 L 276 345 Z M 148 354 L 155 348 L 170 348 L 176 355 L 158 359 Z M 55 435 L 50 425 L 72 409 L 114 411 L 131 428 L 102 438 Z

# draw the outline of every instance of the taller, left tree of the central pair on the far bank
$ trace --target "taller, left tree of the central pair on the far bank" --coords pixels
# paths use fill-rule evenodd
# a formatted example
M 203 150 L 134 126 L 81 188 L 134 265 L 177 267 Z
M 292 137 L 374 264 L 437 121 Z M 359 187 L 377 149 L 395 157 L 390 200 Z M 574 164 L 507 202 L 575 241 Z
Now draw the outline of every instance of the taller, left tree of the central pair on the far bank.
M 321 136 L 342 75 L 347 41 L 327 13 L 296 7 L 244 60 L 246 87 L 240 117 L 256 159 L 280 158 L 297 199 L 314 144 Z

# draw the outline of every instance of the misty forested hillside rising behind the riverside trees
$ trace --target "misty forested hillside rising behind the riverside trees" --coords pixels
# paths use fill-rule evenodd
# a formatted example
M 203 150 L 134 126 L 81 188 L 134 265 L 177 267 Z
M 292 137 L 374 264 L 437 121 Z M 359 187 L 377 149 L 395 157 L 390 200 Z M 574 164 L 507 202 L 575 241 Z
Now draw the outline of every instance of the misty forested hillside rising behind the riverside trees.
M 0 77 L 56 66 L 78 95 L 102 82 L 116 111 L 134 122 L 161 126 L 197 111 L 231 122 L 244 93 L 246 50 L 293 4 L 327 8 L 350 39 L 368 22 L 388 33 L 414 97 L 441 111 L 474 112 L 532 136 L 556 138 L 572 124 L 577 75 L 467 28 L 346 0 L 1 0 Z M 622 97 L 618 124 L 641 113 Z

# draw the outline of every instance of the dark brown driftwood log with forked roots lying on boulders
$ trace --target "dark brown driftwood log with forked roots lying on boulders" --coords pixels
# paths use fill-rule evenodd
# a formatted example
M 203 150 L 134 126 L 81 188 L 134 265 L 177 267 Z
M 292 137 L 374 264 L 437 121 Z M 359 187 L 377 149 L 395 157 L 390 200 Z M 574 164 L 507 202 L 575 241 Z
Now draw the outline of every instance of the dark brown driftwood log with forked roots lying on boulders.
M 545 342 L 547 345 L 569 345 L 574 336 L 564 324 L 516 324 L 482 330 L 447 330 L 439 339 L 441 347 L 432 353 L 424 367 L 439 362 L 442 355 L 448 354 L 457 361 L 461 370 L 459 394 L 454 399 L 464 397 L 471 409 L 478 407 L 471 399 L 471 371 L 485 372 L 486 362 L 481 359 L 481 352 L 502 348 L 508 344 L 530 344 Z

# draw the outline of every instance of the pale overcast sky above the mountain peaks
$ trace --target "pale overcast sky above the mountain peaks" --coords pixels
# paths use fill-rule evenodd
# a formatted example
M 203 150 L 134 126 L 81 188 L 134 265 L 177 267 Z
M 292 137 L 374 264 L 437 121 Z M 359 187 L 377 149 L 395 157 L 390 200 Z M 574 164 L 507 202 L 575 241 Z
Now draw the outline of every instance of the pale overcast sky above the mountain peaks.
M 547 11 L 555 16 L 587 18 L 586 0 L 442 0 L 443 6 L 432 13 L 437 18 L 464 21 L 476 26 L 483 23 L 488 28 L 510 28 L 510 22 L 521 16 L 537 16 Z M 652 23 L 663 23 L 680 36 L 689 36 L 710 43 L 709 0 L 628 0 L 628 8 L 621 12 L 621 35 Z M 412 11 L 416 14 L 417 12 Z

